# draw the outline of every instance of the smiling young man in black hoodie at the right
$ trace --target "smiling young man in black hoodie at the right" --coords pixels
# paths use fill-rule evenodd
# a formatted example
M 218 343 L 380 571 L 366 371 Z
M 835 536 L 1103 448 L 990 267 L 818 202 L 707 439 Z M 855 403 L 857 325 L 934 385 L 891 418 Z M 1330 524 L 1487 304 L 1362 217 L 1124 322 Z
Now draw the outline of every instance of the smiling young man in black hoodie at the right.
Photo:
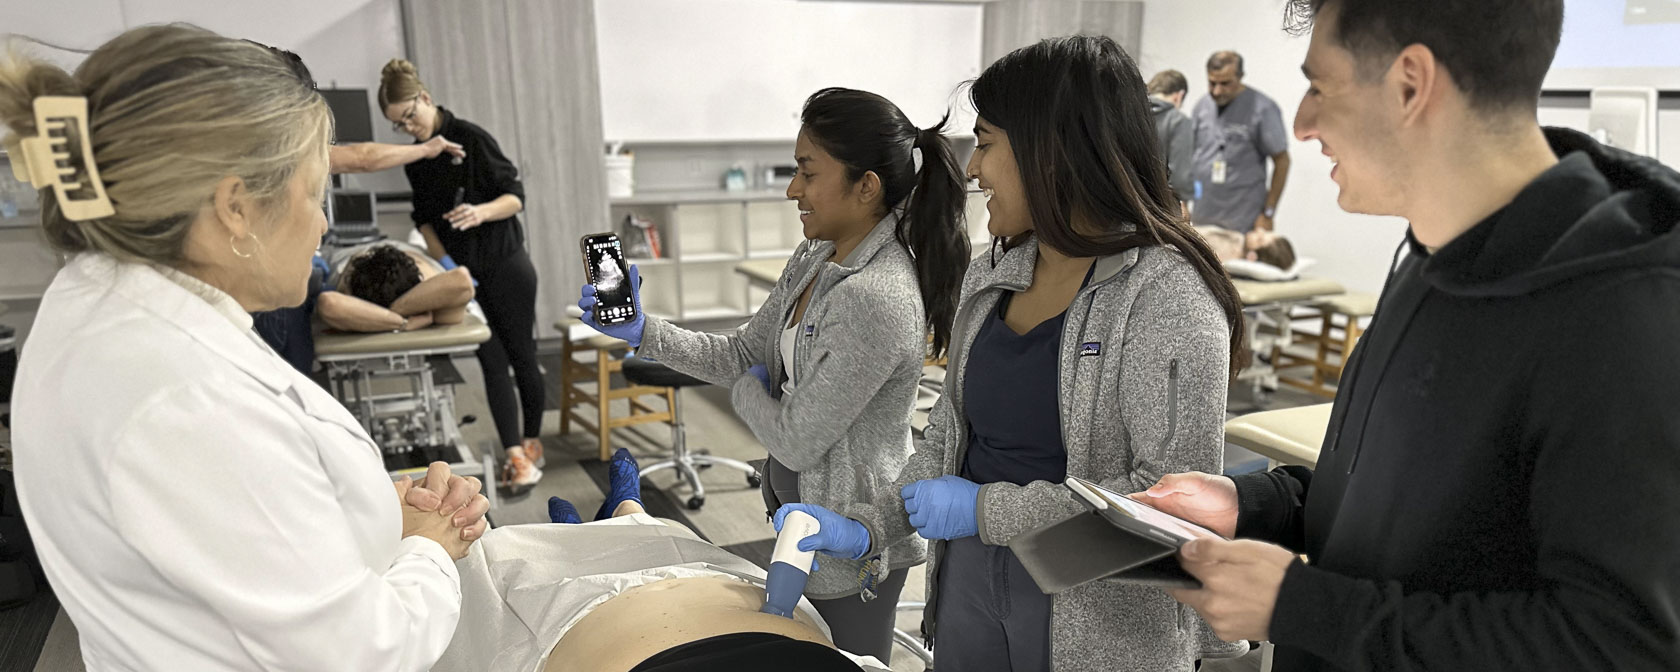
M 1295 134 L 1411 225 L 1317 470 L 1139 496 L 1247 538 L 1173 595 L 1290 672 L 1680 667 L 1680 175 L 1539 128 L 1562 0 L 1290 5 Z

